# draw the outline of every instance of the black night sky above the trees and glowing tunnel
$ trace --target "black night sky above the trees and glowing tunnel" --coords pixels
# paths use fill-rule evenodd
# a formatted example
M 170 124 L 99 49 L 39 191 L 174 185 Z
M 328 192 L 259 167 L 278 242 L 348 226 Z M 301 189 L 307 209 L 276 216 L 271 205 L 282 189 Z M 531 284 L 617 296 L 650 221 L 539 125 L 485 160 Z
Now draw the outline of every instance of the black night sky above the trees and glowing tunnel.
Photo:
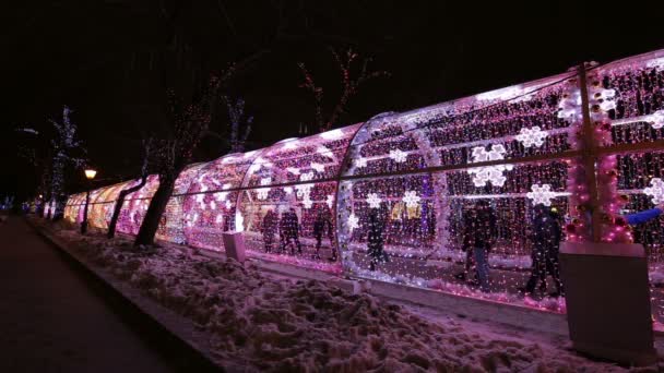
M 339 125 L 403 111 L 664 48 L 662 1 L 577 4 L 556 1 L 43 1 L 3 5 L 0 197 L 34 195 L 39 169 L 19 147 L 48 146 L 20 134 L 48 134 L 48 118 L 69 105 L 100 184 L 135 176 L 141 133 L 164 123 L 164 92 L 189 97 L 210 72 L 257 57 L 230 82 L 254 116 L 250 148 L 298 136 L 313 120 L 298 85 L 305 62 L 339 92 L 328 50 L 353 47 L 390 72 L 361 86 Z M 175 41 L 174 41 L 175 40 Z M 171 46 L 182 50 L 173 58 Z M 227 131 L 225 116 L 212 128 Z M 206 139 L 197 160 L 227 146 Z M 81 189 L 70 178 L 71 191 Z

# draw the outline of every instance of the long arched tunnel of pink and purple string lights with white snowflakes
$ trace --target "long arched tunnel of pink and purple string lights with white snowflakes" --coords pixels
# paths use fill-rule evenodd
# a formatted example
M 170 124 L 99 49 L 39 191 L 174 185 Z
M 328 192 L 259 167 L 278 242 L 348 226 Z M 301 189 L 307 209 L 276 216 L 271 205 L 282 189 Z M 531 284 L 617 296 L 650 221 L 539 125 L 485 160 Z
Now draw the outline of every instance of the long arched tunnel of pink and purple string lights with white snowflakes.
M 592 135 L 597 146 L 664 140 L 664 64 L 652 61 L 628 60 L 588 72 Z M 162 233 L 169 240 L 185 237 L 189 244 L 221 250 L 218 233 L 245 231 L 251 256 L 522 302 L 514 292 L 525 282 L 531 250 L 536 244 L 529 231 L 533 205 L 556 208 L 561 222 L 565 220 L 566 240 L 590 239 L 588 170 L 579 158 L 547 159 L 586 146 L 579 82 L 577 73 L 570 72 L 406 113 L 386 113 L 367 123 L 220 158 L 182 172 L 178 180 L 185 180 L 183 186 L 169 201 Z M 542 160 L 473 166 L 531 156 Z M 653 258 L 661 256 L 657 242 L 664 240 L 664 230 L 657 221 L 632 237 L 620 219 L 622 210 L 664 202 L 661 165 L 661 151 L 597 159 L 602 240 L 644 242 Z M 458 169 L 423 172 L 440 166 Z M 353 177 L 353 181 L 345 177 Z M 153 177 L 128 197 L 120 231 L 138 231 L 144 202 L 157 183 Z M 105 190 L 95 195 L 99 201 L 93 203 L 93 215 L 98 219 L 95 225 L 104 224 L 110 210 L 105 206 L 112 206 L 111 194 Z M 464 217 L 478 201 L 487 202 L 497 218 L 497 243 L 489 255 L 494 281 L 489 294 L 451 279 L 464 268 Z M 222 203 L 226 209 L 221 208 Z M 72 196 L 68 218 L 81 219 L 81 195 Z M 265 252 L 262 228 L 268 212 L 278 221 L 287 217 L 284 229 L 298 231 L 304 254 Z M 325 214 L 336 227 L 339 246 L 336 240 L 325 238 L 323 250 L 337 250 L 340 262 L 309 255 L 316 245 L 315 222 Z M 380 229 L 371 228 L 370 216 L 378 219 Z M 380 234 L 389 256 L 389 262 L 375 263 L 374 270 L 369 268 L 369 233 L 374 239 Z M 662 305 L 655 310 L 659 320 L 664 320 Z

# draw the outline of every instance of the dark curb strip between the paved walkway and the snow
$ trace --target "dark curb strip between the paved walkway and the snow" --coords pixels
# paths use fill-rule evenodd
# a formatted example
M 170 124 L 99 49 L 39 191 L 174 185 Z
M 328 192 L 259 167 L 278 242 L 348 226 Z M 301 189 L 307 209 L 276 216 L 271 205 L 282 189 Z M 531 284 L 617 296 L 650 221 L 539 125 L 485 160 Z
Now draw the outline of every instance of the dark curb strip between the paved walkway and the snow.
M 33 228 L 45 241 L 51 244 L 70 262 L 76 269 L 92 277 L 102 285 L 104 291 L 120 299 L 130 312 L 141 318 L 141 322 L 154 330 L 159 339 L 168 344 L 176 345 L 177 353 L 182 354 L 183 369 L 194 372 L 224 372 L 210 351 L 193 342 L 189 335 L 198 334 L 192 322 L 179 314 L 164 308 L 157 302 L 140 294 L 138 289 L 128 284 L 112 278 L 109 274 L 94 268 L 83 257 L 72 252 L 61 240 L 52 236 L 48 228 L 35 225 L 29 219 L 25 219 L 27 225 Z M 133 291 L 131 291 L 133 290 Z M 158 311 L 158 312 L 156 312 Z M 190 328 L 182 327 L 182 324 L 191 324 Z

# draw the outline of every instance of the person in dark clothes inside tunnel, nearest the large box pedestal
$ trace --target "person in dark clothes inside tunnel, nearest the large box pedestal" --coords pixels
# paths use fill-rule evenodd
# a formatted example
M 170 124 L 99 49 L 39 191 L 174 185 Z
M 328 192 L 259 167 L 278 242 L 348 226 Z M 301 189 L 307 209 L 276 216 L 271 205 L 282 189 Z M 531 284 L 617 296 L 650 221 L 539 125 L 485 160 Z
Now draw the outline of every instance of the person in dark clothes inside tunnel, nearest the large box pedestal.
M 558 217 L 543 204 L 536 205 L 533 221 L 533 251 L 531 252 L 533 265 L 531 277 L 523 288 L 525 293 L 532 294 L 537 281 L 542 281 L 544 286 L 541 288 L 546 289 L 547 274 L 554 278 L 556 285 L 556 292 L 552 296 L 558 297 L 564 293 L 558 263 L 561 227 Z

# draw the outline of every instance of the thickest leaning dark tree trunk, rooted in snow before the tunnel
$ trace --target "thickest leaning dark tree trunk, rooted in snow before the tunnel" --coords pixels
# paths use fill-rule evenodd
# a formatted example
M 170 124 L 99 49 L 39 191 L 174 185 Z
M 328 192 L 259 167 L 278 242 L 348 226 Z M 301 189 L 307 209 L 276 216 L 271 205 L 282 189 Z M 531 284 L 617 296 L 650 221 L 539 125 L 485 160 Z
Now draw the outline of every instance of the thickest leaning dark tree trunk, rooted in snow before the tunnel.
M 173 132 L 170 136 L 156 143 L 155 166 L 159 177 L 159 186 L 150 201 L 134 245 L 154 243 L 154 236 L 175 188 L 175 181 L 189 165 L 193 152 L 208 133 L 217 104 L 220 87 L 223 81 L 229 79 L 232 72 L 233 69 L 229 69 L 222 77 L 212 76 L 208 87 L 188 105 L 182 105 L 181 100 L 176 98 L 175 93 L 169 92 L 169 117 L 173 120 Z

